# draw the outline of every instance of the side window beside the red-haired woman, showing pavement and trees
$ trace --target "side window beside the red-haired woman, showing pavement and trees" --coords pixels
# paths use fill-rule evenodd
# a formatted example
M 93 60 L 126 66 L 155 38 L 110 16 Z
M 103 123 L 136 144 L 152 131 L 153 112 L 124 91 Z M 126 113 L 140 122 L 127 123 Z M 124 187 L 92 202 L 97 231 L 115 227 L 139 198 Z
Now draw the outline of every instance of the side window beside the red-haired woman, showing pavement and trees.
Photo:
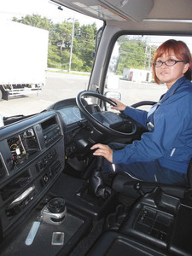
M 154 82 L 154 52 L 160 44 L 170 38 L 172 37 L 142 35 L 119 37 L 113 46 L 108 65 L 105 93 L 110 91 L 110 96 L 113 96 L 115 91 L 119 91 L 121 102 L 129 106 L 143 101 L 158 102 L 160 96 L 166 92 L 166 85 Z M 174 39 L 183 40 L 191 49 L 191 38 Z M 140 108 L 148 110 L 150 106 Z

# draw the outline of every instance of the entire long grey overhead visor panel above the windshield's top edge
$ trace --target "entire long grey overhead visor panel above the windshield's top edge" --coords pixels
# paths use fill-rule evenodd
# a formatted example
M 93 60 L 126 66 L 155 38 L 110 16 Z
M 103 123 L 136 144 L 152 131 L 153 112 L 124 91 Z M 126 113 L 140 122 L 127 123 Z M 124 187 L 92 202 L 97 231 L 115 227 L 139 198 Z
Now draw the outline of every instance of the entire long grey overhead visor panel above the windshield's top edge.
M 100 20 L 142 21 L 154 7 L 154 0 L 51 0 Z

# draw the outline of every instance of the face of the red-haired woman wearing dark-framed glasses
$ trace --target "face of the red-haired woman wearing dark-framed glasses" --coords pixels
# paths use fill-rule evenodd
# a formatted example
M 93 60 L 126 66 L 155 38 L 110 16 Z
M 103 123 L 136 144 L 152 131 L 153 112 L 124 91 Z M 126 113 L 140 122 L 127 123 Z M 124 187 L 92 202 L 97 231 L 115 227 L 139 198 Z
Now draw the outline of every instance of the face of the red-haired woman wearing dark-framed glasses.
M 170 59 L 175 61 L 183 61 L 178 59 L 172 51 L 161 55 L 156 61 L 166 61 Z M 166 83 L 167 88 L 170 89 L 172 84 L 174 84 L 177 79 L 183 77 L 188 68 L 189 63 L 177 62 L 172 67 L 168 67 L 165 63 L 163 63 L 161 67 L 155 67 L 155 73 L 158 79 L 160 79 L 161 82 Z

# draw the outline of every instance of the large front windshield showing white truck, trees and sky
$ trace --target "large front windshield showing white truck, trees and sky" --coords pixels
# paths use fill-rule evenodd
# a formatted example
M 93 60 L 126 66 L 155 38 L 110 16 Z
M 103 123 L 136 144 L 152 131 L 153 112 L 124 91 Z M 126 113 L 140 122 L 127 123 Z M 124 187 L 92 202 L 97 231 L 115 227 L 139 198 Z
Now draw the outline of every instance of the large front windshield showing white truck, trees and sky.
M 87 88 L 102 20 L 50 1 L 0 3 L 0 113 L 43 111 Z

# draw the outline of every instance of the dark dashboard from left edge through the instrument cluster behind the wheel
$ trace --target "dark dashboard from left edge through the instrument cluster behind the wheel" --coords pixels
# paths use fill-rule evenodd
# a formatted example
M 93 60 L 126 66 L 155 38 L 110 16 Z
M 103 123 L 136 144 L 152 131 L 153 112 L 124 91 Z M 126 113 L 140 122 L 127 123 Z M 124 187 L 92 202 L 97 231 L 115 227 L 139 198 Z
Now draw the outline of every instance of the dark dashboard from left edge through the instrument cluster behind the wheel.
M 66 159 L 94 143 L 75 99 L 14 120 L 0 136 L 0 239 L 19 225 L 63 172 Z M 83 149 L 82 149 L 83 148 Z

